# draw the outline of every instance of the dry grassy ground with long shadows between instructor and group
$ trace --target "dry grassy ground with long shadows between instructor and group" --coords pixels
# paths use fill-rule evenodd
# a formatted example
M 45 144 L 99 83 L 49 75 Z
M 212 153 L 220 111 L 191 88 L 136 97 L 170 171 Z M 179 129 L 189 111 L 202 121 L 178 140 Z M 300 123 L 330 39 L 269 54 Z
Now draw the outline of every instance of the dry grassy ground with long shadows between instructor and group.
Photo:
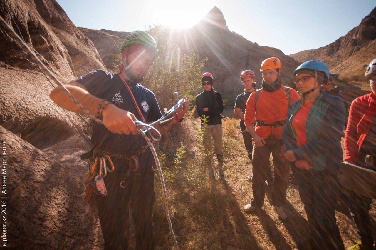
M 180 249 L 301 249 L 309 235 L 305 210 L 296 186 L 289 184 L 287 220 L 280 220 L 274 213 L 266 186 L 267 196 L 263 209 L 254 215 L 243 212 L 250 201 L 251 184 L 246 180 L 251 172 L 239 120 L 223 120 L 224 180 L 216 178 L 209 183 L 200 153 L 198 119 L 186 119 L 178 126 L 178 135 L 188 148 L 185 166 L 180 169 L 177 181 L 167 183 L 168 201 L 173 229 Z M 214 155 L 213 162 L 217 162 Z M 216 166 L 214 166 L 216 169 Z M 175 249 L 164 214 L 161 184 L 155 181 L 155 233 L 157 249 Z M 347 208 L 338 206 L 336 216 L 346 247 L 358 239 L 355 225 Z M 375 204 L 371 214 L 374 221 Z

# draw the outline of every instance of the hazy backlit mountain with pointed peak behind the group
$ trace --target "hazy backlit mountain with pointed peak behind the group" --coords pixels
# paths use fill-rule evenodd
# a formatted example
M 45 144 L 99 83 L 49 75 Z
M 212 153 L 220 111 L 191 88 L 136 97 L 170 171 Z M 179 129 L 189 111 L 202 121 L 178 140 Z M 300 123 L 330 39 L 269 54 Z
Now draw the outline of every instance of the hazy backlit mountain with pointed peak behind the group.
M 109 37 L 122 42 L 128 32 L 79 29 L 94 43 L 106 67 L 112 67 L 110 55 L 119 53 L 119 50 Z M 262 77 L 259 69 L 264 59 L 275 56 L 281 60 L 281 79 L 285 85 L 292 84 L 293 71 L 299 65 L 294 58 L 286 56 L 279 49 L 259 46 L 231 32 L 223 13 L 217 7 L 214 7 L 194 27 L 171 32 L 170 40 L 165 42 L 179 44 L 180 52 L 183 54 L 189 54 L 193 50 L 200 54 L 200 59 L 208 58 L 203 70 L 213 74 L 214 88 L 227 99 L 230 108 L 235 103 L 235 97 L 243 91 L 240 81 L 243 70 L 251 69 L 255 73 L 260 88 Z

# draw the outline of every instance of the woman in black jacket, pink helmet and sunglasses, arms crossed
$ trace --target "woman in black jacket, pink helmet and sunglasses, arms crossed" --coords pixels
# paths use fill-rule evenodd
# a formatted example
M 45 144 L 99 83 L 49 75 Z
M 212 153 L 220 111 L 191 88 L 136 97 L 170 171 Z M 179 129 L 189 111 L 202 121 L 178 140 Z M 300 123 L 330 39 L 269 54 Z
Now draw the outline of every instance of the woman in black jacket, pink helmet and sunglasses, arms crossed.
M 201 128 L 203 129 L 204 148 L 206 151 L 206 164 L 209 169 L 209 177 L 214 178 L 214 171 L 211 166 L 212 138 L 214 140 L 214 149 L 218 160 L 219 178 L 224 178 L 223 174 L 223 149 L 222 149 L 222 117 L 223 101 L 219 92 L 213 88 L 213 76 L 211 73 L 204 73 L 201 78 L 202 91 L 196 96 L 196 110 L 201 119 Z

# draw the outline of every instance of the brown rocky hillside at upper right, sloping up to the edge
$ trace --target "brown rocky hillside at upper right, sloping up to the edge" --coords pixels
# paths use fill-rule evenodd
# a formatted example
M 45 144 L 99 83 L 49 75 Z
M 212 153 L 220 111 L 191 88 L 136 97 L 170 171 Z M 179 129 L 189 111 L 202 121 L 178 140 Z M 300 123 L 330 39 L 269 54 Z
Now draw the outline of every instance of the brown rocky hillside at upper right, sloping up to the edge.
M 365 71 L 363 66 L 376 57 L 376 8 L 357 27 L 333 43 L 290 56 L 299 62 L 318 59 L 326 62 L 333 72 L 361 76 Z

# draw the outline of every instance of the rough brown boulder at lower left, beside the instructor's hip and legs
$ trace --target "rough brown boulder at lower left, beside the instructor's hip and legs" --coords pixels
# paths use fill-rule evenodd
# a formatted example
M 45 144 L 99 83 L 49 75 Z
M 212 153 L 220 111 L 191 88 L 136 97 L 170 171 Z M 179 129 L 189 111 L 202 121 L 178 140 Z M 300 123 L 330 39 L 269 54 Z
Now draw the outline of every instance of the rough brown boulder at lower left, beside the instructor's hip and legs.
M 7 247 L 101 249 L 100 227 L 97 221 L 94 226 L 91 223 L 83 200 L 84 188 L 80 185 L 86 168 L 78 160 L 72 160 L 79 159 L 85 143 L 79 138 L 71 139 L 55 148 L 59 148 L 59 153 L 50 149 L 55 153 L 45 154 L 1 126 L 0 139 L 6 145 L 7 157 L 1 174 L 6 183 L 2 185 L 2 197 L 6 197 L 2 198 L 2 204 L 6 204 L 3 215 L 8 229 Z M 78 146 L 73 154 L 71 143 Z M 69 148 L 70 154 L 65 159 L 51 158 L 64 155 L 61 148 Z

